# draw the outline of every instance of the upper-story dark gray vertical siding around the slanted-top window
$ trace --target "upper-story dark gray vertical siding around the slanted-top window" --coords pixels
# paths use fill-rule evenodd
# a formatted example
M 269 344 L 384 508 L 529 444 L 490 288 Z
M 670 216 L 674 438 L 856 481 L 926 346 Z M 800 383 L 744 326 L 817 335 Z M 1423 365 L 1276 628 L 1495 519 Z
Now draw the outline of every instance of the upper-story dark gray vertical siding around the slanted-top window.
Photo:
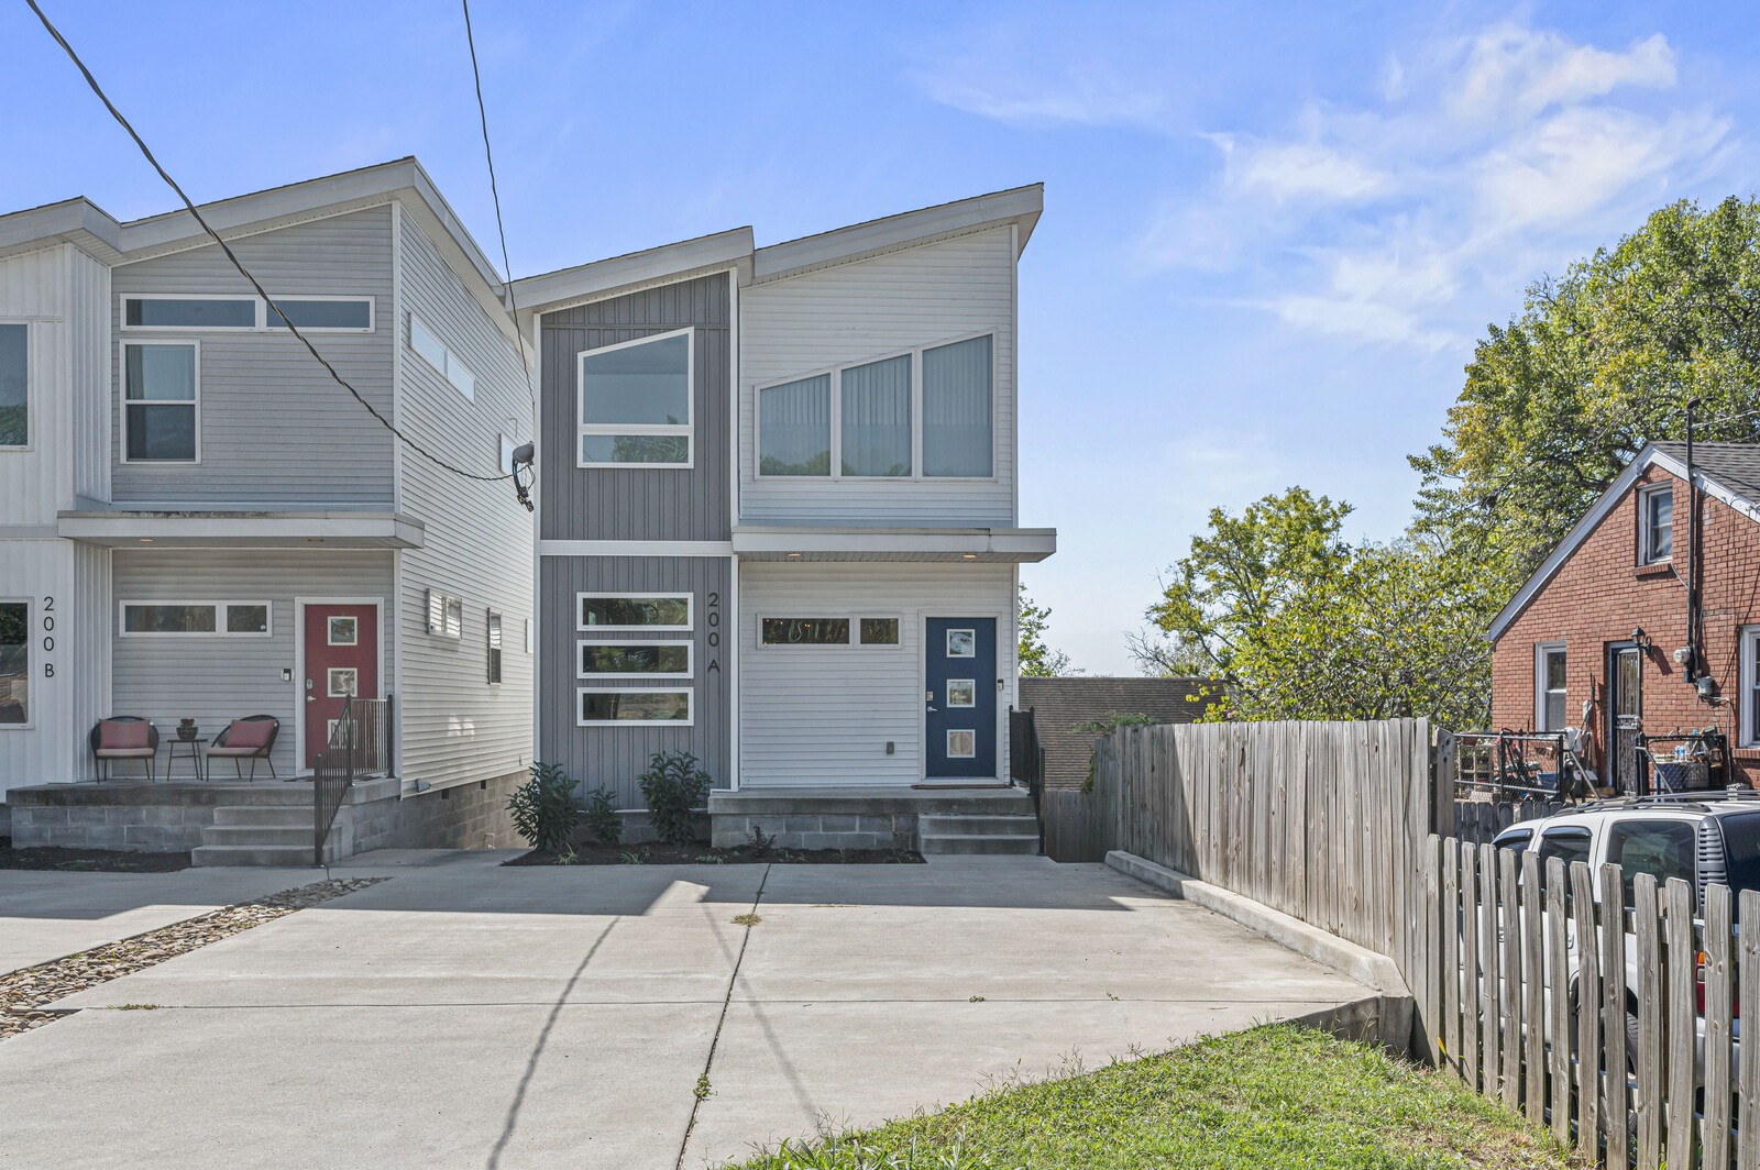
M 727 274 L 699 276 L 544 315 L 546 540 L 727 540 L 730 306 Z M 577 355 L 692 327 L 693 466 L 581 468 Z

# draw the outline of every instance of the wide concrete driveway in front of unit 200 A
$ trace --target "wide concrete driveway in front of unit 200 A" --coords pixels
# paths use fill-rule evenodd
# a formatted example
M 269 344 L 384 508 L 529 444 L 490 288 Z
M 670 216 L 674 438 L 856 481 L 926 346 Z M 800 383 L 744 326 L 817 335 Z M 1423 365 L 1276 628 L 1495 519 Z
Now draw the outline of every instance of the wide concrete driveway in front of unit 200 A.
M 65 999 L 0 1043 L 0 1165 L 695 1170 L 1371 996 L 1100 866 L 503 857 Z

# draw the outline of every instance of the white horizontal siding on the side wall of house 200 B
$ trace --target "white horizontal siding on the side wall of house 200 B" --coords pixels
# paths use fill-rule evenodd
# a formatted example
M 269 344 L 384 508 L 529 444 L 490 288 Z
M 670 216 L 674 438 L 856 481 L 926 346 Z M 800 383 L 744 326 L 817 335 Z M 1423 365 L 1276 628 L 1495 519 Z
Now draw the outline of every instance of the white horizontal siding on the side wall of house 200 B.
M 496 475 L 500 436 L 532 436 L 532 385 L 519 348 L 502 331 L 410 215 L 398 215 L 396 311 L 385 331 L 407 347 L 415 313 L 475 375 L 465 398 L 403 350 L 400 428 L 454 466 Z M 403 646 L 400 772 L 431 785 L 482 781 L 532 764 L 533 526 L 512 484 L 452 475 L 400 449 L 398 507 L 426 526 L 419 549 L 400 552 L 398 630 Z M 459 639 L 428 632 L 428 589 L 465 603 Z M 488 611 L 502 614 L 502 681 L 488 677 Z

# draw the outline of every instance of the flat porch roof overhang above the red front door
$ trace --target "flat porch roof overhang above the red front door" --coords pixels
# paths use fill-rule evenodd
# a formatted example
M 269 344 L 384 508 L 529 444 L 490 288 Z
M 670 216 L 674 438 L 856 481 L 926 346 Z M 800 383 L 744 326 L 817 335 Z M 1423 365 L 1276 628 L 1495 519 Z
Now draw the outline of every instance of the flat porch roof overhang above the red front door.
M 401 512 L 62 512 L 56 533 L 109 549 L 419 549 Z

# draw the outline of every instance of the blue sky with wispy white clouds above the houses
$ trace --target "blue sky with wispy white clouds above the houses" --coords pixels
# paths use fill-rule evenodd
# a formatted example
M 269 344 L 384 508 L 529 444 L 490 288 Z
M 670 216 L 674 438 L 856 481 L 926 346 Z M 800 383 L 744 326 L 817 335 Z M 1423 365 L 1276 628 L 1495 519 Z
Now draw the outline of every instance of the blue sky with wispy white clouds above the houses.
M 495 253 L 458 7 L 42 0 L 195 199 L 417 155 Z M 1024 570 L 1128 674 L 1211 507 L 1410 514 L 1461 366 L 1522 289 L 1672 199 L 1755 194 L 1744 4 L 477 0 L 514 271 L 759 243 L 1045 183 L 1021 269 Z M 0 209 L 171 194 L 23 5 Z

